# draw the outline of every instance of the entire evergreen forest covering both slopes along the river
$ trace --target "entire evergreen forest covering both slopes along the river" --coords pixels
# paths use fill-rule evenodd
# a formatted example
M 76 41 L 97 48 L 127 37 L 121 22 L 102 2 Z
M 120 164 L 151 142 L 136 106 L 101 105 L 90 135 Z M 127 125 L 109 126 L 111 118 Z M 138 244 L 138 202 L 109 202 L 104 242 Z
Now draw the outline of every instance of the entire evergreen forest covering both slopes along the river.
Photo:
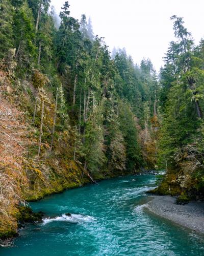
M 27 202 L 145 170 L 166 170 L 157 195 L 203 198 L 204 40 L 171 20 L 157 73 L 68 2 L 60 24 L 50 0 L 0 2 L 0 239 L 35 218 Z

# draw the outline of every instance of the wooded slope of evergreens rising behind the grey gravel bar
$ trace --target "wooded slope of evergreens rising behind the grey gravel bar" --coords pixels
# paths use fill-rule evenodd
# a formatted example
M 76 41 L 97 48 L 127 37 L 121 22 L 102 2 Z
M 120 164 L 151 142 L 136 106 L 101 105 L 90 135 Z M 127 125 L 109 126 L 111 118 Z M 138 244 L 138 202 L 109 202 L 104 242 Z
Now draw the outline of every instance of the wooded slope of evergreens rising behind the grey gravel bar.
M 176 41 L 161 69 L 159 165 L 167 175 L 156 193 L 180 195 L 178 203 L 203 200 L 203 40 L 194 44 L 184 20 L 175 15 Z

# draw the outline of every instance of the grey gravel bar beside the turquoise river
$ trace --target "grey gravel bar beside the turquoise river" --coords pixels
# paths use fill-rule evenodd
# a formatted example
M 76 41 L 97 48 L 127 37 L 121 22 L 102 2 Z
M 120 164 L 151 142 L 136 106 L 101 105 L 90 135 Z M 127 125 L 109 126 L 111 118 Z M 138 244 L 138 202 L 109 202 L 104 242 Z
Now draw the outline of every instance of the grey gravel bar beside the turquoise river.
M 178 205 L 175 197 L 151 196 L 146 207 L 160 217 L 204 234 L 204 202 Z

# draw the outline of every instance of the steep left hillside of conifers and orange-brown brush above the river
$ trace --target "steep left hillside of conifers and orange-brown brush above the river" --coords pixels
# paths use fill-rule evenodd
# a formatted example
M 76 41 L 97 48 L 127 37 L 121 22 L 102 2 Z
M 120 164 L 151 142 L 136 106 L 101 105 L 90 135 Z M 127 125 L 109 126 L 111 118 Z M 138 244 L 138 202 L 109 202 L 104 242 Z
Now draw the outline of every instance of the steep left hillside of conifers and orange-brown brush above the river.
M 68 2 L 57 30 L 49 2 L 0 3 L 0 238 L 16 233 L 26 201 L 156 164 L 150 60 L 111 59 Z

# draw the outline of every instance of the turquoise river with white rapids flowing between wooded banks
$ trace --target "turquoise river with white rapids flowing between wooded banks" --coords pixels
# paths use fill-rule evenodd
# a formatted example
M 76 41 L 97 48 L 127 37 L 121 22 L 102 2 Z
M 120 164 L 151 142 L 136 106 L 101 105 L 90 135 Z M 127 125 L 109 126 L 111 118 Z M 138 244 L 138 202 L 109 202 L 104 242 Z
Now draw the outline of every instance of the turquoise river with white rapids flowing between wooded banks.
M 27 225 L 0 255 L 204 255 L 203 237 L 143 208 L 154 186 L 154 176 L 126 176 L 33 202 L 43 223 Z

